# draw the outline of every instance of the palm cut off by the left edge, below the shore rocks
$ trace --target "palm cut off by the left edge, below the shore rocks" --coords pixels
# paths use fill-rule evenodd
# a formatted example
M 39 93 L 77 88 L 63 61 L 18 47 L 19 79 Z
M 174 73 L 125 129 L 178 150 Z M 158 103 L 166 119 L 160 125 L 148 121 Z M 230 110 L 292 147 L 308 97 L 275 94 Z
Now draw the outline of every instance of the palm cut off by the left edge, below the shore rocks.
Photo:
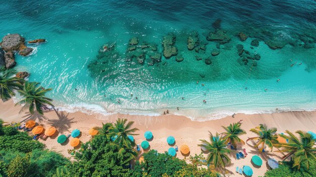
M 0 97 L 3 101 L 15 96 L 14 90 L 22 89 L 24 79 L 14 77 L 17 74 L 14 69 L 0 68 Z

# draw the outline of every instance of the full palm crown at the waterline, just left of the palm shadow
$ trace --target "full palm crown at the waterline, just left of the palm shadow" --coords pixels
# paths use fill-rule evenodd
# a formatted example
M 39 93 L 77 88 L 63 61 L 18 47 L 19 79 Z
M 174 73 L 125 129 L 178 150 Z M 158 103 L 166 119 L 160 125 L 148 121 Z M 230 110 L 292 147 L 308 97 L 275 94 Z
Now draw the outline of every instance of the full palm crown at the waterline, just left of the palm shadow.
M 50 105 L 54 108 L 51 101 L 52 99 L 45 97 L 45 93 L 51 89 L 44 89 L 37 82 L 25 82 L 22 90 L 18 90 L 20 95 L 23 97 L 22 100 L 17 102 L 17 104 L 24 104 L 21 111 L 29 109 L 30 113 L 34 113 L 34 109 L 39 113 L 43 114 L 43 109 Z M 16 105 L 17 105 L 16 104 Z M 20 112 L 21 112 L 20 111 Z

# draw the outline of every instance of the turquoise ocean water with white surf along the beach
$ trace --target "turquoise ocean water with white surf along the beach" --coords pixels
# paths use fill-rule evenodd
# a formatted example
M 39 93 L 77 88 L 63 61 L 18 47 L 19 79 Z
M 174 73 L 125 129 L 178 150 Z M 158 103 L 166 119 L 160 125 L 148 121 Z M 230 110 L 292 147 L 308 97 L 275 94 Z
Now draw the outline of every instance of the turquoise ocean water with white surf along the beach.
M 7 1 L 0 16 L 0 36 L 47 40 L 29 45 L 35 50 L 27 57 L 17 54 L 16 68 L 52 88 L 48 96 L 60 109 L 150 115 L 169 109 L 205 120 L 316 108 L 315 1 Z M 231 38 L 225 45 L 206 40 L 218 19 Z M 207 42 L 205 52 L 187 49 L 193 31 Z M 130 38 L 156 44 L 162 52 L 170 32 L 183 62 L 175 56 L 163 56 L 153 66 L 148 58 L 144 64 L 127 60 Z M 239 40 L 239 32 L 248 39 Z M 250 45 L 253 39 L 259 46 Z M 268 40 L 286 45 L 274 50 Z M 114 42 L 115 53 L 99 62 L 99 48 Z M 261 56 L 256 66 L 240 62 L 237 44 Z M 220 54 L 211 56 L 217 47 Z M 205 64 L 207 57 L 211 65 Z

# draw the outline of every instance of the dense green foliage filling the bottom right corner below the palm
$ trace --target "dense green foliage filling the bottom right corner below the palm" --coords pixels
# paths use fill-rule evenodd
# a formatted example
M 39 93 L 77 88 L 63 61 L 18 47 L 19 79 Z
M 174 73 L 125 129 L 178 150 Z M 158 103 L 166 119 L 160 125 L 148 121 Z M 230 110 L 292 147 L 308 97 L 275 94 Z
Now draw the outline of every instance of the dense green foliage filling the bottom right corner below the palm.
M 316 160 L 308 161 L 309 169 L 303 165 L 300 169 L 292 168 L 293 161 L 283 162 L 279 168 L 267 171 L 265 177 L 314 177 L 316 176 Z

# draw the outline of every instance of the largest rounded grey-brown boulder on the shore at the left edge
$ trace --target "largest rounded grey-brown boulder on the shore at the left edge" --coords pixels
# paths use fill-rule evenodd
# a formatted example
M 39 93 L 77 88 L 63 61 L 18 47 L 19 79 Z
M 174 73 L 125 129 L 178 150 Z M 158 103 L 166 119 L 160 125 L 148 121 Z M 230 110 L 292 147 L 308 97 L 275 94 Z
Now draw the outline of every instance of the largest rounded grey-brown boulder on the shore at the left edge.
M 9 34 L 2 38 L 0 46 L 5 51 L 17 51 L 24 45 L 24 38 L 19 34 Z

